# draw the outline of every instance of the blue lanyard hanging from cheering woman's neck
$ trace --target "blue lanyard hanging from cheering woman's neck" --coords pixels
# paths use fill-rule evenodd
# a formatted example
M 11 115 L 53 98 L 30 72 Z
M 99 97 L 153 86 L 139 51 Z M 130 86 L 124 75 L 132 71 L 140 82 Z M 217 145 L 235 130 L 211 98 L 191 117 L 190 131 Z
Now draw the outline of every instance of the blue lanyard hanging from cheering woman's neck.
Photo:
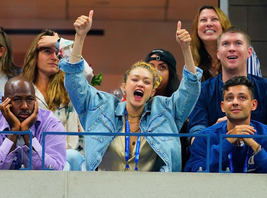
M 129 126 L 129 122 L 128 122 L 128 119 L 127 119 L 127 110 L 125 109 L 125 119 L 126 119 L 126 133 L 130 133 L 130 126 Z M 141 133 L 141 129 L 139 131 L 139 133 Z M 137 168 L 137 164 L 138 164 L 138 161 L 139 161 L 139 150 L 140 150 L 140 140 L 141 140 L 141 137 L 138 136 L 137 137 L 137 142 L 136 142 L 136 149 L 135 149 L 135 171 L 138 171 L 138 168 Z M 126 160 L 126 166 L 125 166 L 125 169 L 127 171 L 130 170 L 130 167 L 129 167 L 129 142 L 130 142 L 130 136 L 125 136 L 125 160 Z

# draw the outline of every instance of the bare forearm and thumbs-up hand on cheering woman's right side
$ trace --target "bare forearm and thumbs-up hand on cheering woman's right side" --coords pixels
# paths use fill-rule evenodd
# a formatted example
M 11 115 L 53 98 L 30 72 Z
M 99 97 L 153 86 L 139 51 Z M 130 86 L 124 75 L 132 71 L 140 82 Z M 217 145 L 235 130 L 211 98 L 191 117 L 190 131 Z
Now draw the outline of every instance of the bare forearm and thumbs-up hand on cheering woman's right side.
M 181 45 L 184 54 L 185 68 L 192 73 L 196 73 L 197 71 L 195 69 L 195 63 L 191 54 L 191 48 L 189 46 L 191 40 L 192 39 L 188 31 L 186 31 L 185 29 L 181 29 L 181 21 L 178 21 L 176 41 Z

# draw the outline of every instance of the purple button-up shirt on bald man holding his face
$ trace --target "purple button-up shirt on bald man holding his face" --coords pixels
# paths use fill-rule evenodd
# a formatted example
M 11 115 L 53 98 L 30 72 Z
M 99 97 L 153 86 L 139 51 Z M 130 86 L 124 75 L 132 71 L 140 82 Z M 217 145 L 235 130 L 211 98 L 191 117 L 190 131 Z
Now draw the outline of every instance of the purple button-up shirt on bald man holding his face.
M 36 122 L 30 127 L 33 140 L 32 146 L 32 169 L 42 169 L 42 132 L 65 132 L 64 126 L 52 111 L 39 108 Z M 10 127 L 4 116 L 0 112 L 0 132 L 9 131 Z M 54 170 L 63 170 L 66 161 L 66 142 L 65 135 L 46 135 L 45 136 L 45 155 L 44 165 L 48 168 L 52 165 Z M 23 164 L 25 168 L 29 168 L 29 148 L 24 144 L 20 147 L 16 144 L 15 150 L 9 153 L 13 142 L 6 138 L 6 135 L 0 134 L 0 169 L 8 170 L 12 164 L 14 157 L 18 159 L 23 156 Z M 21 154 L 23 152 L 23 155 Z M 9 154 L 8 154 L 9 153 Z

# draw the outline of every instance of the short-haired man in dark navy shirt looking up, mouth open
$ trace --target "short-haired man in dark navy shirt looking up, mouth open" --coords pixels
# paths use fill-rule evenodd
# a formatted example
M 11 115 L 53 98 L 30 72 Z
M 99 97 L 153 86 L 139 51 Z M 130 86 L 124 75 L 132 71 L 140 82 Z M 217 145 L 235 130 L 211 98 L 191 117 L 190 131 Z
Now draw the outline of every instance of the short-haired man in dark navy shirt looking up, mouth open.
M 267 80 L 247 73 L 247 59 L 252 54 L 250 38 L 240 28 L 230 27 L 223 31 L 217 43 L 217 57 L 222 64 L 222 73 L 201 83 L 198 101 L 189 116 L 189 133 L 199 133 L 226 120 L 220 107 L 221 88 L 234 76 L 246 76 L 254 83 L 255 99 L 259 103 L 251 113 L 251 119 L 267 124 Z

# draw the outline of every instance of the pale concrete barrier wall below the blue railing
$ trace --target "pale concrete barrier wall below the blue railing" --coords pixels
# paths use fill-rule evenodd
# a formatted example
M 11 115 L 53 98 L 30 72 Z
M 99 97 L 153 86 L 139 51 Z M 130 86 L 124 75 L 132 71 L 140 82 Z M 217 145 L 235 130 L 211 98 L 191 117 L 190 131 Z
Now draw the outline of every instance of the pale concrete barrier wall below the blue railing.
M 2 197 L 265 197 L 267 175 L 0 171 Z

